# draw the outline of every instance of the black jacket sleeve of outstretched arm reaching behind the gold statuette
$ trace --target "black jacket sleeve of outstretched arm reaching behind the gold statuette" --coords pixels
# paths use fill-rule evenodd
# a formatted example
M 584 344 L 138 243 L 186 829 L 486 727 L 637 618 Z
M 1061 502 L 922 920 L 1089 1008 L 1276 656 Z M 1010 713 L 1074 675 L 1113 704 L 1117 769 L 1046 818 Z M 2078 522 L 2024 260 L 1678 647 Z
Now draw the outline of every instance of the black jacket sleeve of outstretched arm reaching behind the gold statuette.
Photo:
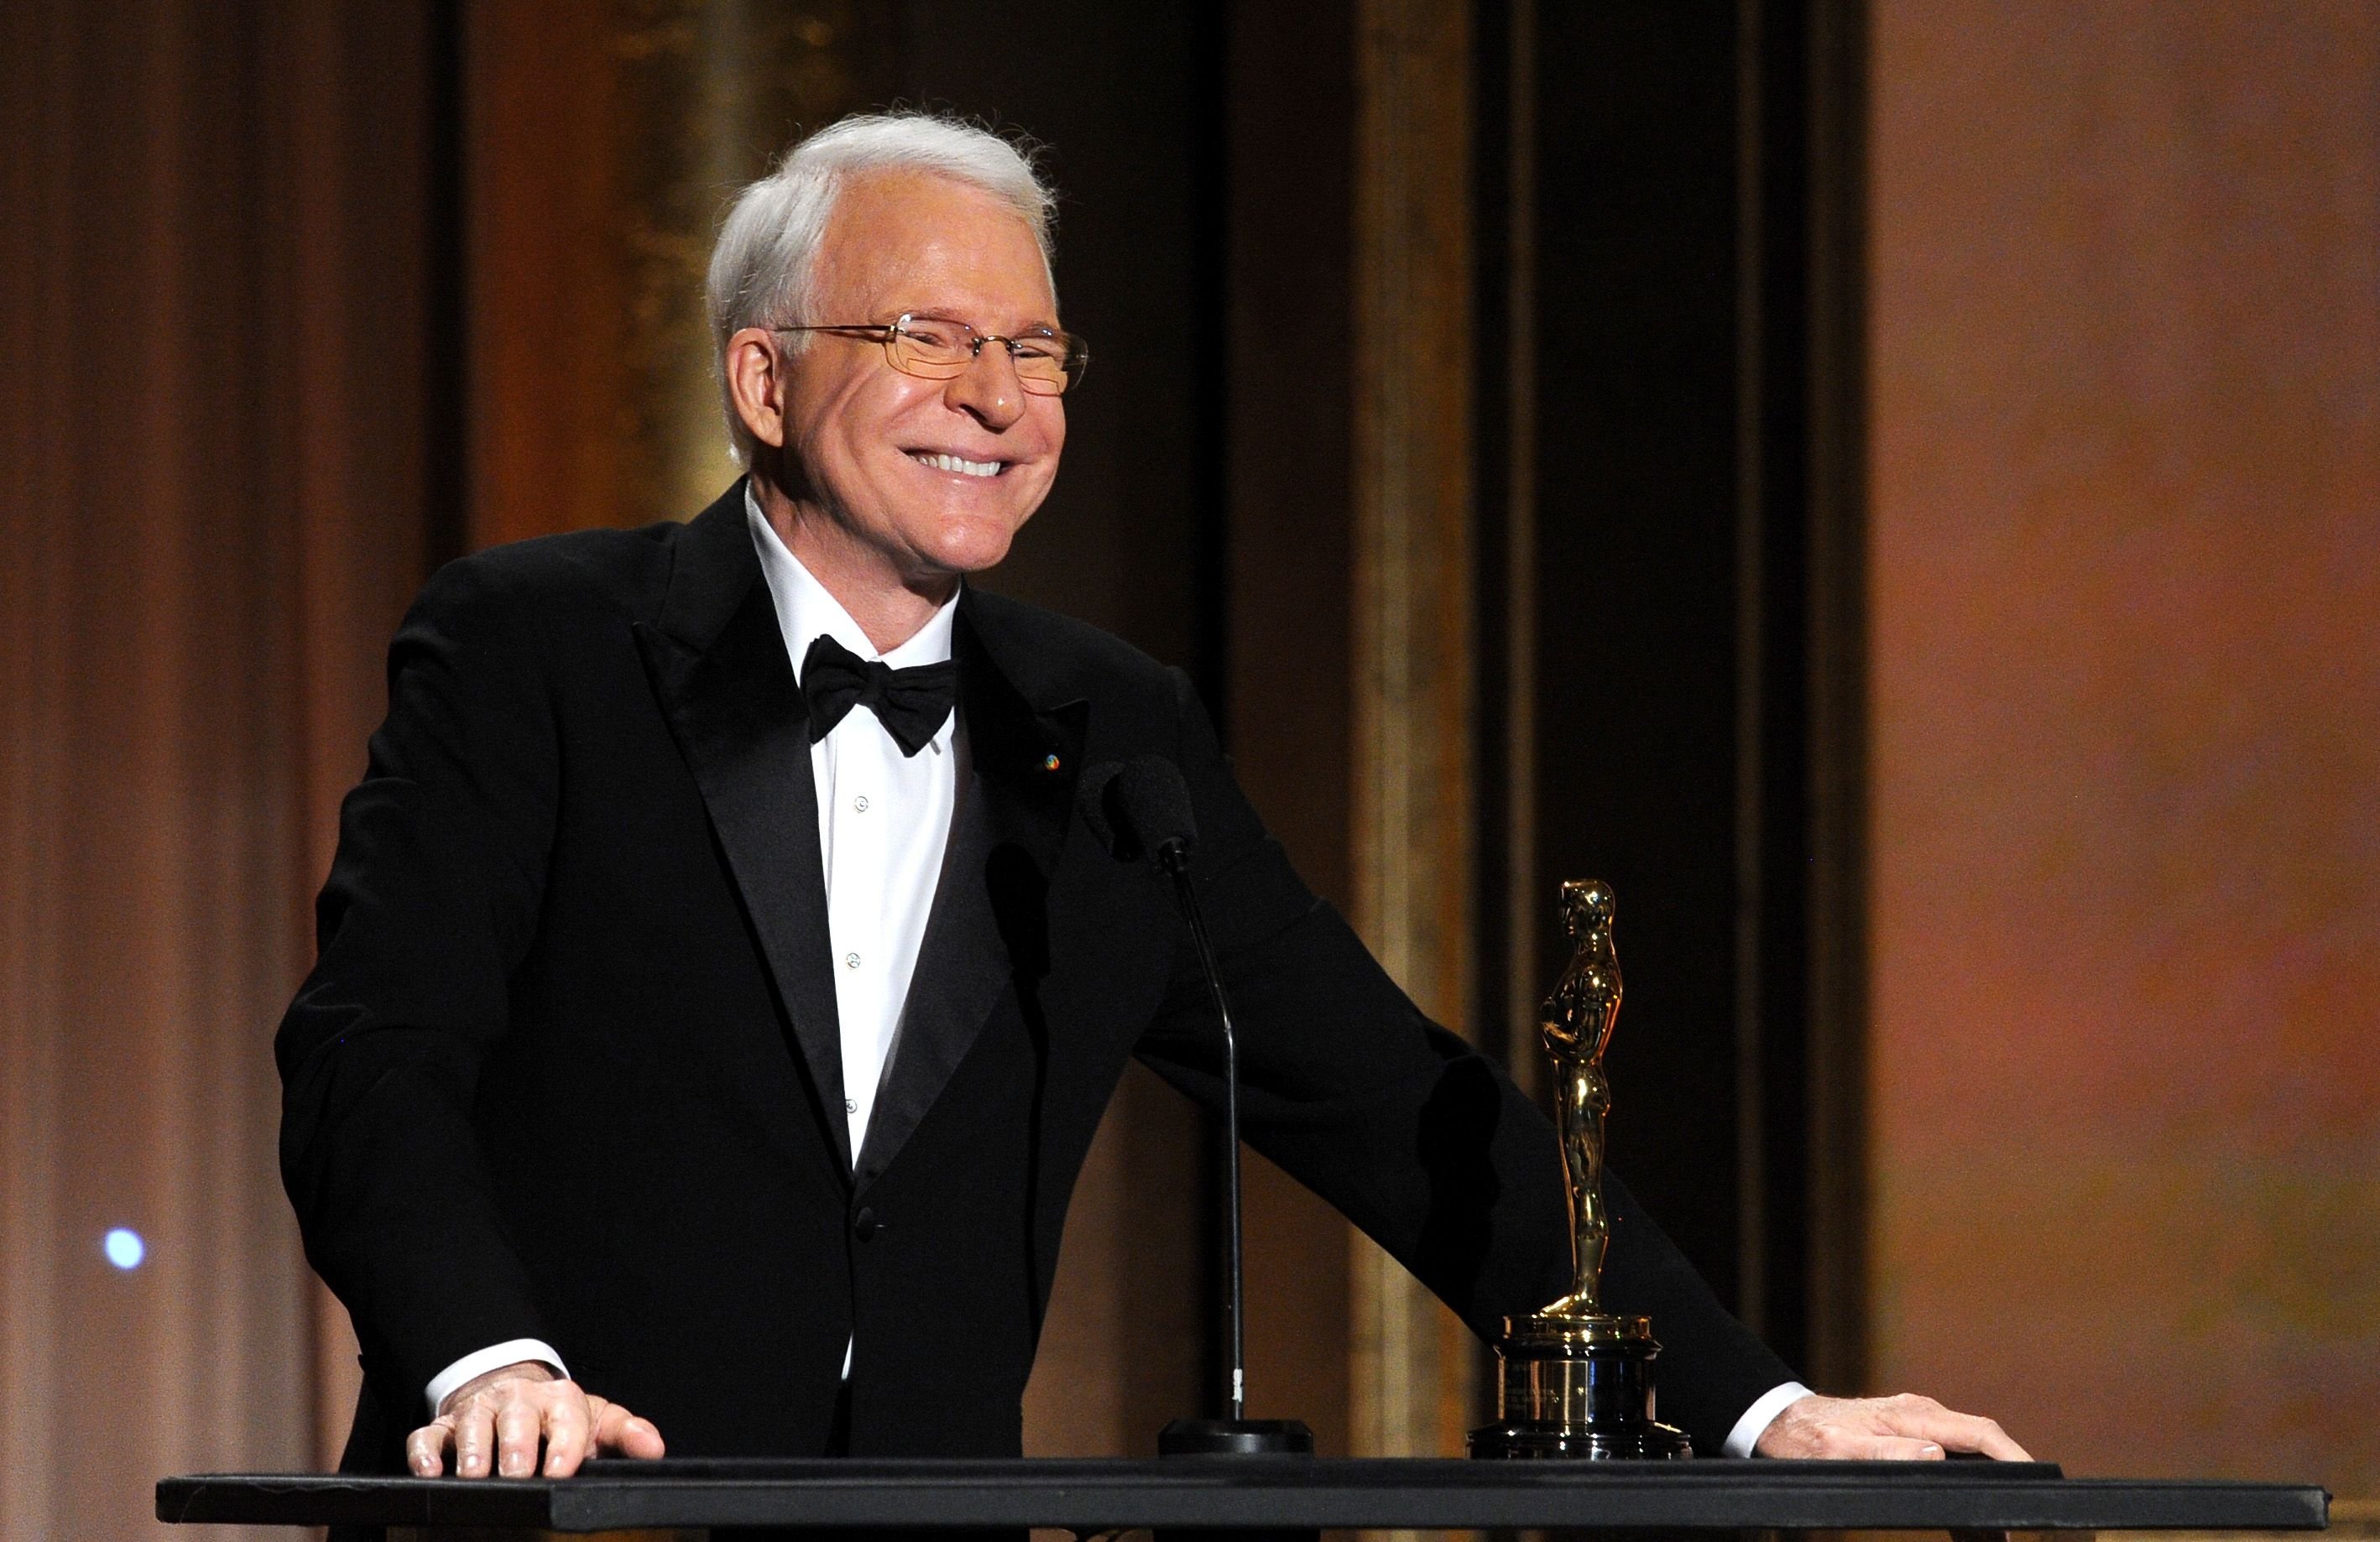
M 1185 676 L 1180 766 L 1192 878 L 1240 1038 L 1240 1128 L 1428 1285 L 1473 1333 L 1568 1290 L 1561 1147 L 1511 1078 L 1430 1023 L 1347 921 L 1290 869 L 1240 792 Z M 1138 1054 L 1221 1109 L 1221 1040 L 1188 945 Z M 1659 1414 L 1716 1454 L 1735 1418 L 1792 1380 L 1606 1176 L 1604 1297 L 1664 1344 Z

